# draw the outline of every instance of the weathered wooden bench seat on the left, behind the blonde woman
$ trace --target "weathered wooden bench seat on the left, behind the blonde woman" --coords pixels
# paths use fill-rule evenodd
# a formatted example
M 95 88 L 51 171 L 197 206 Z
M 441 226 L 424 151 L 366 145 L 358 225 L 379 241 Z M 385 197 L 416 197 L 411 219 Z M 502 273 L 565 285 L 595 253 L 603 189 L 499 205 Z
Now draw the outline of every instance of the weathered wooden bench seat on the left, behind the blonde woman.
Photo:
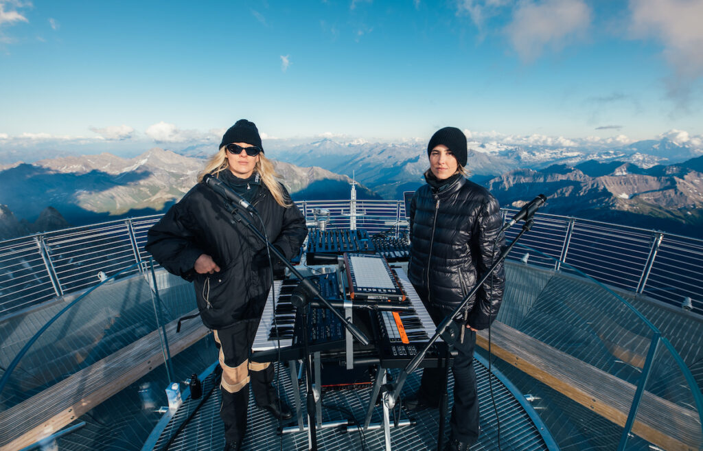
M 192 311 L 189 314 L 197 313 Z M 166 326 L 171 355 L 209 333 L 202 322 L 178 320 Z M 0 451 L 21 450 L 70 424 L 164 362 L 159 332 L 154 331 L 108 357 L 0 412 Z

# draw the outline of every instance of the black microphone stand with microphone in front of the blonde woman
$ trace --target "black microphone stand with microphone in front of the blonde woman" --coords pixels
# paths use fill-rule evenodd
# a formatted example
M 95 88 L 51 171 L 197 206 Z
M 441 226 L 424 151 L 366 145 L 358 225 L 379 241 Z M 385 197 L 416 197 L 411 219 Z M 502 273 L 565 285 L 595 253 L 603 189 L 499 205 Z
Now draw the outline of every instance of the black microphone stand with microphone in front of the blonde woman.
M 307 306 L 309 304 L 309 295 L 311 294 L 315 298 L 318 299 L 319 303 L 323 308 L 328 308 L 339 320 L 342 322 L 342 325 L 344 325 L 349 332 L 354 335 L 354 338 L 359 340 L 361 344 L 364 346 L 369 344 L 368 338 L 359 330 L 358 327 L 352 324 L 352 322 L 349 322 L 347 318 L 344 318 L 344 316 L 336 311 L 328 302 L 327 299 L 325 299 L 322 294 L 318 291 L 318 289 L 313 285 L 309 280 L 307 280 L 305 277 L 303 277 L 298 270 L 295 269 L 295 267 L 288 261 L 288 259 L 285 258 L 285 256 L 278 250 L 276 249 L 275 246 L 271 245 L 269 240 L 266 240 L 266 237 L 259 231 L 259 229 L 256 228 L 254 223 L 252 223 L 251 219 L 248 217 L 248 215 L 243 214 L 241 211 L 241 208 L 239 205 L 235 204 L 234 202 L 228 202 L 226 201 L 226 206 L 229 207 L 228 211 L 230 214 L 232 214 L 233 219 L 231 219 L 231 223 L 243 223 L 244 225 L 251 230 L 254 235 L 264 243 L 264 245 L 269 249 L 269 251 L 272 251 L 273 254 L 275 254 L 278 259 L 285 265 L 286 268 L 290 270 L 290 272 L 295 275 L 300 280 L 299 287 L 302 288 L 301 292 L 299 292 L 299 296 L 292 296 L 291 301 L 293 301 L 293 297 L 297 298 L 297 303 L 294 305 L 299 308 L 299 311 L 302 314 L 302 334 L 303 334 L 303 348 L 304 348 L 304 353 L 305 353 L 305 358 L 304 358 L 304 366 L 305 366 L 305 379 L 307 379 L 307 414 L 308 414 L 308 438 L 309 438 L 309 449 L 316 451 L 317 450 L 317 436 L 316 436 L 316 407 L 315 407 L 315 396 L 313 393 L 313 387 L 312 387 L 312 362 L 311 362 L 311 355 L 309 352 L 309 344 L 308 344 L 308 338 L 309 338 L 309 330 L 308 330 L 308 324 L 307 324 Z

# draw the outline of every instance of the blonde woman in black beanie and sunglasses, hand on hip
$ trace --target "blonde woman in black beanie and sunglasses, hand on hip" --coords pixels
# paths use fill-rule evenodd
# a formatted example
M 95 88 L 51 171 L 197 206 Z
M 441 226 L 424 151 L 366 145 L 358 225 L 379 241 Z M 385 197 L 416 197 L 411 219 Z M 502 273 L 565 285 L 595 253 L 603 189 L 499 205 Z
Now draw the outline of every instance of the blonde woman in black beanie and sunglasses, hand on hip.
M 292 416 L 278 397 L 273 366 L 249 360 L 272 278 L 269 254 L 252 230 L 233 222 L 223 198 L 202 183 L 211 174 L 252 204 L 252 218 L 285 256 L 307 236 L 305 219 L 264 157 L 259 131 L 240 119 L 224 133 L 219 152 L 191 188 L 148 232 L 146 249 L 170 273 L 193 281 L 203 324 L 212 329 L 222 368 L 220 416 L 225 450 L 240 450 L 247 428 L 251 383 L 259 407 L 278 419 Z M 262 228 L 263 223 L 263 228 Z M 275 258 L 272 256 L 272 259 Z

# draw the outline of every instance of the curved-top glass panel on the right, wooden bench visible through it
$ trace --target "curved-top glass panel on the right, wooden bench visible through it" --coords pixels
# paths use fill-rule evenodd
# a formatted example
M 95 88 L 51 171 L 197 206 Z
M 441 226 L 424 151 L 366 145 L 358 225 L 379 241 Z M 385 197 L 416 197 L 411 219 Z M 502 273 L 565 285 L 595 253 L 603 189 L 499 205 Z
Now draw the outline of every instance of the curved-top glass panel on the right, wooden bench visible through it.
M 555 270 L 549 256 L 520 244 L 511 254 L 492 344 L 503 358 L 496 366 L 536 398 L 562 450 L 617 449 L 654 327 L 579 270 L 563 263 Z

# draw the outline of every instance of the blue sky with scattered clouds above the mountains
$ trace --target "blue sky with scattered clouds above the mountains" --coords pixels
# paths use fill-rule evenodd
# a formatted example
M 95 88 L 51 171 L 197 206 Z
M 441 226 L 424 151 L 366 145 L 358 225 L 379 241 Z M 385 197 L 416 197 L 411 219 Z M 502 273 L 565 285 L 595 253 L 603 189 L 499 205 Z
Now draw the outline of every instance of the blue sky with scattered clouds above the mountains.
M 702 0 L 0 0 L 0 150 L 216 143 L 241 117 L 269 138 L 699 139 L 702 17 Z

